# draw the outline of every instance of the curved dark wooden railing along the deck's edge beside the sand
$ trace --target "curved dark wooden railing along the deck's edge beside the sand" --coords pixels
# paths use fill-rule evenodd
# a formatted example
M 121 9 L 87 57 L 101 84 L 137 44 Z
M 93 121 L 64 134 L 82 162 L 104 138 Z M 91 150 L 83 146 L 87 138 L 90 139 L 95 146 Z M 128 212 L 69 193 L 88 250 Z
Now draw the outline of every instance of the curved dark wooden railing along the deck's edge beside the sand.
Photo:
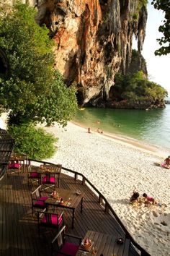
M 45 161 L 37 161 L 37 160 L 32 160 L 32 159 L 28 159 L 28 161 L 34 161 L 34 162 L 43 163 L 43 164 L 55 164 L 55 163 L 50 163 L 50 162 L 45 162 Z M 92 184 L 89 181 L 89 179 L 86 179 L 86 176 L 84 176 L 84 174 L 81 174 L 81 173 L 79 173 L 77 171 L 73 171 L 71 169 L 65 168 L 63 166 L 62 166 L 62 170 L 67 171 L 68 173 L 73 174 L 75 180 L 77 180 L 78 177 L 80 176 L 81 177 L 81 181 L 82 181 L 82 185 L 87 184 L 88 187 L 91 187 L 92 189 L 94 189 L 95 194 L 98 197 L 98 202 L 102 203 L 102 205 L 104 205 L 104 210 L 107 213 L 111 213 L 111 215 L 115 217 L 117 223 L 119 223 L 119 225 L 121 226 L 122 231 L 125 232 L 126 238 L 130 239 L 130 242 L 133 244 L 133 246 L 135 246 L 138 250 L 140 250 L 140 255 L 141 256 L 151 256 L 148 252 L 146 252 L 145 249 L 143 249 L 143 247 L 140 247 L 140 244 L 135 242 L 135 240 L 133 239 L 133 236 L 131 236 L 129 231 L 125 228 L 124 224 L 122 223 L 120 218 L 117 216 L 117 214 L 115 213 L 115 210 L 113 210 L 112 206 L 109 204 L 107 199 L 104 197 L 104 195 L 102 195 L 101 192 L 99 192 L 99 190 L 96 187 L 94 187 L 94 184 Z

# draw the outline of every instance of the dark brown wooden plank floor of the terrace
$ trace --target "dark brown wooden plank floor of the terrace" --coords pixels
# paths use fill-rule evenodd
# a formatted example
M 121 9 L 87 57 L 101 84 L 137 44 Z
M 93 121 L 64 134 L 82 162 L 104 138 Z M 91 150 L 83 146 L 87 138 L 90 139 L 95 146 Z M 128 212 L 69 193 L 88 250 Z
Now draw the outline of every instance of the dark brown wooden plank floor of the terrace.
M 81 236 L 87 230 L 122 236 L 119 224 L 99 204 L 98 198 L 86 185 L 71 176 L 61 174 L 61 187 L 77 189 L 85 193 L 83 213 L 80 205 L 76 210 L 74 228 L 71 229 L 71 212 L 65 211 L 67 233 Z M 57 190 L 57 189 L 56 189 Z M 37 218 L 32 216 L 27 174 L 5 175 L 0 182 L 0 255 L 1 256 L 48 256 L 50 242 L 56 232 L 42 229 L 38 236 Z M 129 255 L 138 255 L 130 247 Z M 111 255 L 110 255 L 111 256 Z M 117 255 L 118 256 L 118 255 Z

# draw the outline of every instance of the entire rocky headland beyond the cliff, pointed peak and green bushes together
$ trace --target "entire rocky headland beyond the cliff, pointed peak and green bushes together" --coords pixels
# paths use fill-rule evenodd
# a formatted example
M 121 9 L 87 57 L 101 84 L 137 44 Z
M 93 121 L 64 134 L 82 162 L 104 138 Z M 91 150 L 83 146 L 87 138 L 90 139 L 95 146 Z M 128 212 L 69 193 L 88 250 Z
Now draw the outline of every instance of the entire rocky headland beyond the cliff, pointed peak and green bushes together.
M 130 65 L 115 74 L 115 85 L 109 91 L 107 106 L 112 108 L 164 107 L 167 91 L 148 80 L 146 60 L 139 51 L 132 51 Z

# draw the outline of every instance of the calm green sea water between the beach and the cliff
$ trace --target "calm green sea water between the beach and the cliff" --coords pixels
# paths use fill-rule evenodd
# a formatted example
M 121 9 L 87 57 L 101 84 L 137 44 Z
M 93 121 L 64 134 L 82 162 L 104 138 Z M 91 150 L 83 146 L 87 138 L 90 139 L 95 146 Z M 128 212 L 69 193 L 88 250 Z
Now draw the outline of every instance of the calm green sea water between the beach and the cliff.
M 102 129 L 116 135 L 170 150 L 170 104 L 163 109 L 133 110 L 81 108 L 73 121 L 91 129 Z

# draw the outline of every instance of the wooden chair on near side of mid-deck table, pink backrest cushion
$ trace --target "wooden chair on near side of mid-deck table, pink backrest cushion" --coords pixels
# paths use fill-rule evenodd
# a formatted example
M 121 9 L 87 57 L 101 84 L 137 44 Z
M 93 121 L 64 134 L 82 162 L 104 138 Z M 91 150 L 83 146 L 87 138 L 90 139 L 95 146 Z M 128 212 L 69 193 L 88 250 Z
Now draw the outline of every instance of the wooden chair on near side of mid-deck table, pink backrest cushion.
M 61 214 L 58 213 L 50 213 L 46 209 L 43 211 L 37 212 L 37 220 L 38 220 L 38 234 L 40 235 L 40 226 L 47 228 L 54 228 L 57 232 L 61 230 L 64 226 L 63 223 L 63 212 Z

